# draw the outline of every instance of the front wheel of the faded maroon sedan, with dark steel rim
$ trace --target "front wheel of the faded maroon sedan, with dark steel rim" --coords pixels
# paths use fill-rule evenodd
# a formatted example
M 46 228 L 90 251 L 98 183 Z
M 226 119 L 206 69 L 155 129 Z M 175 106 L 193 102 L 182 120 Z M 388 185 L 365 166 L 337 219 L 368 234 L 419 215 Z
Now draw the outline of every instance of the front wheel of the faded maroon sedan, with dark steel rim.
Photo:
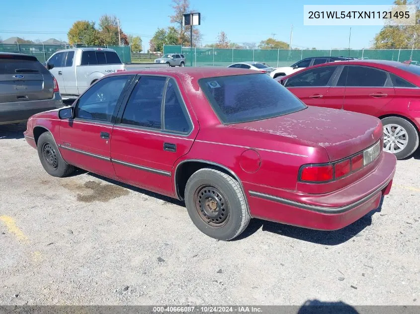
M 42 133 L 38 138 L 38 156 L 45 171 L 53 177 L 67 177 L 75 171 L 61 157 L 61 154 L 50 132 Z

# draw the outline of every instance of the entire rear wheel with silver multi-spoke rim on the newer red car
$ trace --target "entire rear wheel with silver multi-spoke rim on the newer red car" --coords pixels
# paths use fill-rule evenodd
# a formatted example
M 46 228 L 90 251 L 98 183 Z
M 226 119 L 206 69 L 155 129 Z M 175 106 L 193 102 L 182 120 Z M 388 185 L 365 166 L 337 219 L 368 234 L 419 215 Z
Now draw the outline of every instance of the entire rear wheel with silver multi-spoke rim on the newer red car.
M 384 150 L 403 159 L 419 147 L 419 133 L 409 121 L 399 117 L 382 119 L 384 127 Z

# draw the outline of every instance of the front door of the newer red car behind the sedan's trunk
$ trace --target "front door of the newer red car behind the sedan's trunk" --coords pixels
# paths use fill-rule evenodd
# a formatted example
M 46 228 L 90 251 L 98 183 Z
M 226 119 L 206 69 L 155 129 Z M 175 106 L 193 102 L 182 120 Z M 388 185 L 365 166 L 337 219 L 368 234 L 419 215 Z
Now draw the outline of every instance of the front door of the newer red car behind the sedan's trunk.
M 290 76 L 284 87 L 308 106 L 337 108 L 334 103 L 325 102 L 336 70 L 333 65 L 303 70 Z

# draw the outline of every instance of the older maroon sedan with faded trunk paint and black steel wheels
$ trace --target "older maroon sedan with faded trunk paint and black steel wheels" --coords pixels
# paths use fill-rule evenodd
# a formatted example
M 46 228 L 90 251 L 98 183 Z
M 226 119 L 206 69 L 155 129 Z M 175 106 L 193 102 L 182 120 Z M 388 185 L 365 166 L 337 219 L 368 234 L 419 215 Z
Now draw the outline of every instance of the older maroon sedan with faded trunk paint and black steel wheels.
M 71 108 L 32 116 L 24 134 L 50 175 L 79 167 L 184 199 L 221 240 L 251 217 L 342 228 L 378 207 L 396 167 L 379 119 L 307 107 L 268 75 L 234 68 L 111 74 Z

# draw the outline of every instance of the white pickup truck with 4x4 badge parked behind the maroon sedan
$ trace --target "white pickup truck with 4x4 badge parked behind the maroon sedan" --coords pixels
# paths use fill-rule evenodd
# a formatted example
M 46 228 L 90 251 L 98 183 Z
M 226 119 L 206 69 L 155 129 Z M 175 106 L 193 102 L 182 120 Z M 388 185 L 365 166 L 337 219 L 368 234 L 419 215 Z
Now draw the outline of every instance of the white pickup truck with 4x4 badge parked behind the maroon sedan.
M 64 96 L 79 96 L 102 76 L 126 70 L 115 50 L 106 48 L 59 50 L 45 66 L 56 78 Z

